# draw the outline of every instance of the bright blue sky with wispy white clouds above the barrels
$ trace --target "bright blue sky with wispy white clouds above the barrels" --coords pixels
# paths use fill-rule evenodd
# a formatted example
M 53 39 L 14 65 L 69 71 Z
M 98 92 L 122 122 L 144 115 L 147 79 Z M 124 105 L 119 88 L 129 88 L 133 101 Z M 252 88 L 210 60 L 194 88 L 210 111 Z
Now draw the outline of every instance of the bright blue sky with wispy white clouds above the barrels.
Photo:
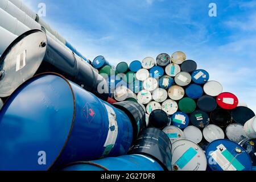
M 23 0 L 90 60 L 142 60 L 183 51 L 256 111 L 256 1 Z M 208 15 L 216 3 L 217 17 Z

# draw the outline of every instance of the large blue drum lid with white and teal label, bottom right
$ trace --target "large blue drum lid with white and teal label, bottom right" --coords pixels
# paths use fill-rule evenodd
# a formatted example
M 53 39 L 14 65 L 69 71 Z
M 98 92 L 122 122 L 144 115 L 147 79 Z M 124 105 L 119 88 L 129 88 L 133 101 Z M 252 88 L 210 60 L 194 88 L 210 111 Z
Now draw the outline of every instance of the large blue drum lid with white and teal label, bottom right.
M 227 139 L 214 140 L 205 152 L 213 171 L 251 171 L 249 154 L 239 144 Z

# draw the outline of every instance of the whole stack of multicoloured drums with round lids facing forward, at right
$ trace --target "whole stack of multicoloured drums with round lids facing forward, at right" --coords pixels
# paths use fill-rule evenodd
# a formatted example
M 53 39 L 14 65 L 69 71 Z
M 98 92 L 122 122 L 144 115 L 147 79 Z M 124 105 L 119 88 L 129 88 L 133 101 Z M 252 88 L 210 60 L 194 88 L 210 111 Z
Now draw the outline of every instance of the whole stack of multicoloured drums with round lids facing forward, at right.
M 164 131 L 172 143 L 172 169 L 251 170 L 256 165 L 256 119 L 235 94 L 223 92 L 184 52 L 111 66 L 93 61 L 109 82 L 115 102 L 143 107 L 147 127 Z M 99 68 L 99 67 L 94 67 Z

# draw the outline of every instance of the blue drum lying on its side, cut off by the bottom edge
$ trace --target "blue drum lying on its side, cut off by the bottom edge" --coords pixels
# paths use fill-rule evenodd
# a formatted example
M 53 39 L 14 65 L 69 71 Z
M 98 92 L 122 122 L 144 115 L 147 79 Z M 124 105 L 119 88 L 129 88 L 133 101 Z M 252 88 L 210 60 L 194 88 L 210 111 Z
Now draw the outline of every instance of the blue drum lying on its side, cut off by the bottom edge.
M 63 171 L 163 171 L 163 168 L 149 156 L 134 154 L 77 162 L 69 164 Z

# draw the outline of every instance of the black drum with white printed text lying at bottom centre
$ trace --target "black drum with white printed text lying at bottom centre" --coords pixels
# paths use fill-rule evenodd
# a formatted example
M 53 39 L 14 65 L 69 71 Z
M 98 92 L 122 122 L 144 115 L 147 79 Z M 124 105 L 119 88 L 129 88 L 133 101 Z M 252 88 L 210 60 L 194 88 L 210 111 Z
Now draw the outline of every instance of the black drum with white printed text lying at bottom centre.
M 142 131 L 128 154 L 150 156 L 165 170 L 172 171 L 172 145 L 169 137 L 162 130 L 150 127 Z

